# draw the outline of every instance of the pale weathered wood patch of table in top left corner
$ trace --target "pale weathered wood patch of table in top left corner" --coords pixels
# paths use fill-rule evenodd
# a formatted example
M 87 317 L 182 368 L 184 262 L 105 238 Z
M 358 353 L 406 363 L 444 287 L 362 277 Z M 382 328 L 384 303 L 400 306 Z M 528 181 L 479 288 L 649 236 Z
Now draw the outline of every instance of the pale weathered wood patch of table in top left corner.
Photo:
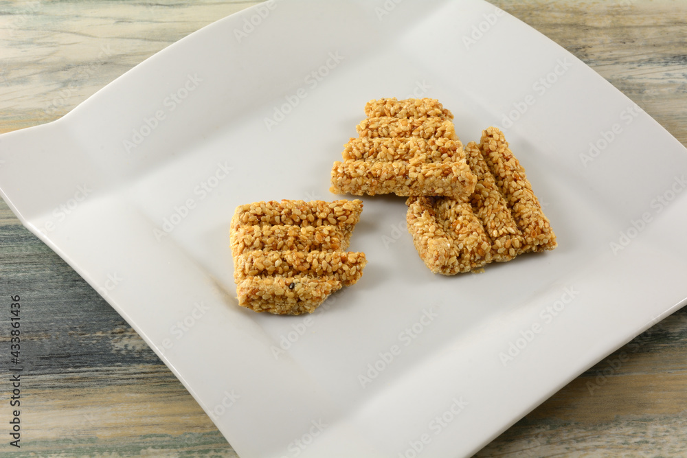
M 0 133 L 65 115 L 161 49 L 257 3 L 0 2 Z

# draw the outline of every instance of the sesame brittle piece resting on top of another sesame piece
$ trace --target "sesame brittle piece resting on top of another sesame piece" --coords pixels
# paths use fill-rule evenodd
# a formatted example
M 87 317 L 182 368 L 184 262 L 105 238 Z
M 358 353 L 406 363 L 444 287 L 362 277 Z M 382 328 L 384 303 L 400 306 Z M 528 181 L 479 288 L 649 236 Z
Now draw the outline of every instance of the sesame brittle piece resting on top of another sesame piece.
M 453 115 L 432 99 L 381 99 L 365 106 L 359 137 L 332 168 L 336 194 L 469 196 L 477 178 L 455 135 Z

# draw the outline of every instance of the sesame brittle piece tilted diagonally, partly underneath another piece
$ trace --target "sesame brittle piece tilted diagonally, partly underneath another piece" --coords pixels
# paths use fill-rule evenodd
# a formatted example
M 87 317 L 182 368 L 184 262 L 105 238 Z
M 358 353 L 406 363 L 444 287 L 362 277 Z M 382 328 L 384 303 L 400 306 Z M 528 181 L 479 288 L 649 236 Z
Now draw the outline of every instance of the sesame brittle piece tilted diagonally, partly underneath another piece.
M 503 133 L 488 128 L 466 146 L 477 175 L 469 198 L 411 197 L 408 230 L 434 273 L 454 275 L 529 251 L 551 250 L 556 236 Z

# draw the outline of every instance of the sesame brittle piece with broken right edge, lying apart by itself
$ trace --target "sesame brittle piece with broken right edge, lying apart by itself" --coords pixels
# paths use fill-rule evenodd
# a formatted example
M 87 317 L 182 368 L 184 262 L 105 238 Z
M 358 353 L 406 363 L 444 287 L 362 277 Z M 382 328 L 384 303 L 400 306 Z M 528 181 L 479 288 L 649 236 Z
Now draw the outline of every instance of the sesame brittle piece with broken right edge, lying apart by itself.
M 271 201 L 240 205 L 231 225 L 240 306 L 256 312 L 313 312 L 360 279 L 364 253 L 348 248 L 363 203 Z

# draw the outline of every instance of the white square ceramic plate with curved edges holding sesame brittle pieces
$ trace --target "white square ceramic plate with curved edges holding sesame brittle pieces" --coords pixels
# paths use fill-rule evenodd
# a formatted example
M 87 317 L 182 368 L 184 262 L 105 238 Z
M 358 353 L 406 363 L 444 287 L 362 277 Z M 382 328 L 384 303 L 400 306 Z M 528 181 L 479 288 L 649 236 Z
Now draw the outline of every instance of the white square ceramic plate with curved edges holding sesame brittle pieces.
M 496 124 L 559 238 L 432 275 L 403 198 L 365 198 L 361 281 L 308 317 L 236 305 L 236 205 L 333 199 L 372 98 Z M 2 196 L 174 371 L 242 457 L 469 455 L 685 304 L 687 154 L 583 62 L 480 0 L 284 1 L 0 137 Z

